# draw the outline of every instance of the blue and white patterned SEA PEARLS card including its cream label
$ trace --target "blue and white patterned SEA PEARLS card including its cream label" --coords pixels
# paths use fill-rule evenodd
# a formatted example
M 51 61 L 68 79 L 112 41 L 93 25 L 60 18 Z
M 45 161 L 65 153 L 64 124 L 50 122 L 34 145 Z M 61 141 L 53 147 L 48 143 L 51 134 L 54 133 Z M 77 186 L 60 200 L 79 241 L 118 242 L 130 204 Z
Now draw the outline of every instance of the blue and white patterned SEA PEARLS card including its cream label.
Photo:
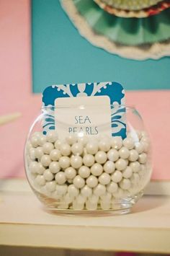
M 125 90 L 117 82 L 52 85 L 42 93 L 42 107 L 44 133 L 126 137 Z

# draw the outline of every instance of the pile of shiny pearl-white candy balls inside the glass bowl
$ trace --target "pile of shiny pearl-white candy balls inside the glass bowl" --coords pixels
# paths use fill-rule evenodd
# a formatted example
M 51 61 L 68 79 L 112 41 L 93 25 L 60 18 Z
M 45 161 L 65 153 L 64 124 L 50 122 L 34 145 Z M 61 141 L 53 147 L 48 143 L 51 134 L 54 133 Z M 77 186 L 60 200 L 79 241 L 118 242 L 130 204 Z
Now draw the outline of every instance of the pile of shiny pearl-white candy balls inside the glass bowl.
M 135 139 L 69 135 L 64 141 L 55 131 L 35 132 L 27 143 L 28 178 L 35 190 L 58 202 L 58 208 L 95 210 L 114 208 L 148 182 L 148 137 Z

